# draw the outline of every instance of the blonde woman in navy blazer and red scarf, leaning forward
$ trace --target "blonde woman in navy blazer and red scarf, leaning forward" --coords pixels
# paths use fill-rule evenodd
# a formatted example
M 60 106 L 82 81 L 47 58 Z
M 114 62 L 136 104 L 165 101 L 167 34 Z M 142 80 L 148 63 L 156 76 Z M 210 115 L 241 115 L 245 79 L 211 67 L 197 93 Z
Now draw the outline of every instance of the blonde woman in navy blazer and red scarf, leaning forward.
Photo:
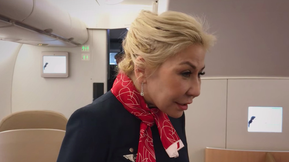
M 58 162 L 188 162 L 184 110 L 214 41 L 186 14 L 142 11 L 114 86 L 71 115 Z

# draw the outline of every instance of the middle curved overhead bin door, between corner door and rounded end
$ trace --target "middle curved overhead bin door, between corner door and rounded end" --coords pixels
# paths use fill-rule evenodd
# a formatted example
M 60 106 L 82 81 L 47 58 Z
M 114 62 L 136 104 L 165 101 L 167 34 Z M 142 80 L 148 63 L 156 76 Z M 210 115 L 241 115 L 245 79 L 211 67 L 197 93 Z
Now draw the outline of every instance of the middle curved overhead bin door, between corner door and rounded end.
M 71 19 L 68 12 L 53 5 L 49 0 L 34 0 L 33 11 L 23 23 L 41 30 L 52 29 L 52 34 L 69 38 Z

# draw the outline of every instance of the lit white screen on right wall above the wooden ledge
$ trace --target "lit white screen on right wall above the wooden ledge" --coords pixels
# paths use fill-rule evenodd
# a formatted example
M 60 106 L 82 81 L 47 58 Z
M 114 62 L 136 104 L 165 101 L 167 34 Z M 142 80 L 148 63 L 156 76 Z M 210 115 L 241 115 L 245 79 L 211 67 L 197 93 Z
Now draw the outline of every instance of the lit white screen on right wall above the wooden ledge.
M 249 107 L 248 132 L 282 132 L 282 107 Z

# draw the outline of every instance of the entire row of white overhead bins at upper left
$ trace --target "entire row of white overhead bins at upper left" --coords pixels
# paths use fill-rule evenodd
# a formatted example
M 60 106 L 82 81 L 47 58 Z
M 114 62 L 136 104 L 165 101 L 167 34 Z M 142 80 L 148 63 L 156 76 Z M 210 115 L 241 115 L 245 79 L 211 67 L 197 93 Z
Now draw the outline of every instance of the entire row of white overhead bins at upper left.
M 88 40 L 88 31 L 84 22 L 49 0 L 4 0 L 0 1 L 0 40 L 75 47 Z

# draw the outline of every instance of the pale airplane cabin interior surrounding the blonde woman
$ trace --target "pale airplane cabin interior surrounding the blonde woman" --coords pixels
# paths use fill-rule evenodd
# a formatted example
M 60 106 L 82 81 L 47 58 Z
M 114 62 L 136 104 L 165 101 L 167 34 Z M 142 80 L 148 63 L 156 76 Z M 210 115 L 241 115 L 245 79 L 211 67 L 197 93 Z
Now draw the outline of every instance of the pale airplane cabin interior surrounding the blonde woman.
M 131 22 L 149 10 L 200 16 L 217 37 L 185 111 L 190 161 L 288 162 L 288 5 L 0 0 L 0 161 L 57 160 L 68 119 L 111 90 Z

